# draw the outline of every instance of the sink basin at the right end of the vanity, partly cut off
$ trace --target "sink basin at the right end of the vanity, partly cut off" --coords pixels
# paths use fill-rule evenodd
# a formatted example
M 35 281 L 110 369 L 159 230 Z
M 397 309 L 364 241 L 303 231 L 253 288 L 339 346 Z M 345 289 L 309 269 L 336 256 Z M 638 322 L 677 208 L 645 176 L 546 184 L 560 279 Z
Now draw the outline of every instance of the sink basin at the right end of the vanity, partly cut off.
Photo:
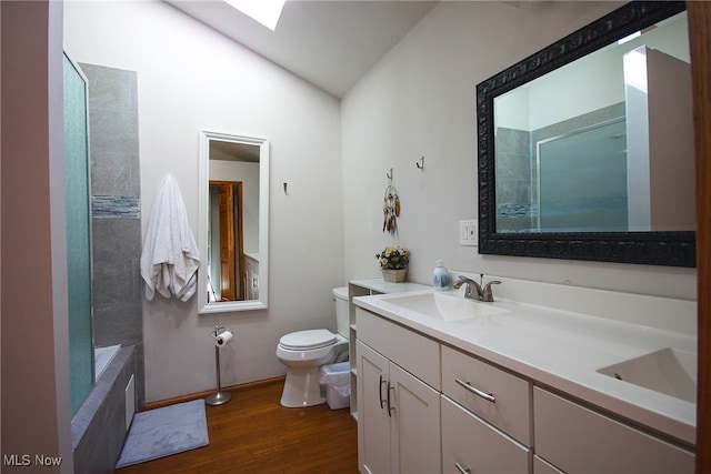
M 697 355 L 662 349 L 598 370 L 599 373 L 697 403 Z

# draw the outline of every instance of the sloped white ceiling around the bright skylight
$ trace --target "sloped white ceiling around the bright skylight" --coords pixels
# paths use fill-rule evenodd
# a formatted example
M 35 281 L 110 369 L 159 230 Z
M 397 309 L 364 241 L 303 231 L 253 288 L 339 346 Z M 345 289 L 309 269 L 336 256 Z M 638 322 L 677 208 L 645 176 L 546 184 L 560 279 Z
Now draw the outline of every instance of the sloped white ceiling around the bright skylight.
M 164 0 L 341 98 L 437 0 L 287 0 L 276 31 L 219 0 Z

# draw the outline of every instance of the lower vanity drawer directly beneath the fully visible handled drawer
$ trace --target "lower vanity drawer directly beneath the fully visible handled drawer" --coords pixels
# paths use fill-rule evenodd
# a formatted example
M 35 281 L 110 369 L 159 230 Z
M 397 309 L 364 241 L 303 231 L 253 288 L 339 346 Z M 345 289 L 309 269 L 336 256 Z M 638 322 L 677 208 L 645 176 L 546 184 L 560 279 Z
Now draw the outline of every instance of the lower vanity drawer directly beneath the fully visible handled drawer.
M 527 474 L 530 450 L 442 396 L 442 472 Z

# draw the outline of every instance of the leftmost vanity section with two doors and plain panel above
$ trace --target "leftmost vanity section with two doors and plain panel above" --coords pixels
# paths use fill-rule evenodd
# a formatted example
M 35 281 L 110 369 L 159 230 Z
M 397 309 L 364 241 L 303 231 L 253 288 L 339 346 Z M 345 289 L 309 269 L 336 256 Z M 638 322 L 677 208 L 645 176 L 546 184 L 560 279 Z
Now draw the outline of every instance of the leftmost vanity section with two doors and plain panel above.
M 360 471 L 440 472 L 439 344 L 360 309 L 357 322 Z

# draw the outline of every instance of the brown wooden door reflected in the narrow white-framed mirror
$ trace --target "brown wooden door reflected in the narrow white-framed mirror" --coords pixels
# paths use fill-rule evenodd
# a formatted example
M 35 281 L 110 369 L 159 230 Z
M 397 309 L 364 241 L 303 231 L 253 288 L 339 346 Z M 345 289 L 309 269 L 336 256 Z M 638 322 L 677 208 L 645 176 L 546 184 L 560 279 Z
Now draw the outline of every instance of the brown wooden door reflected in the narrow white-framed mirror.
M 242 182 L 210 181 L 209 301 L 246 299 Z

